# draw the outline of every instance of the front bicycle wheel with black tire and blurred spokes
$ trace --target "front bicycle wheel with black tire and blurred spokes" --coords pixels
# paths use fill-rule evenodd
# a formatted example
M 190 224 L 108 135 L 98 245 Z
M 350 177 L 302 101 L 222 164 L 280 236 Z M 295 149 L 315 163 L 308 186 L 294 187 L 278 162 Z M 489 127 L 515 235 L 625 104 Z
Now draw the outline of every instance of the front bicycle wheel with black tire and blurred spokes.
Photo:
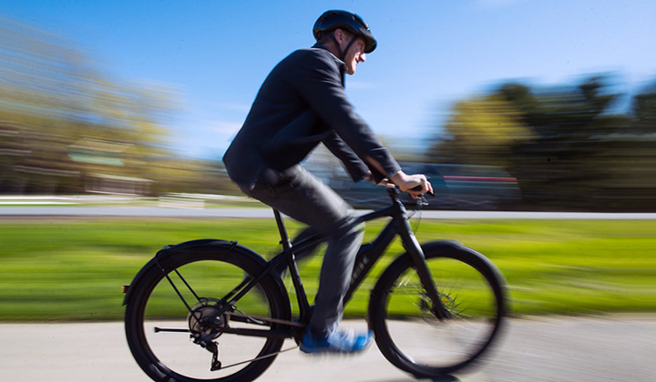
M 381 353 L 415 377 L 443 377 L 475 364 L 501 332 L 505 280 L 485 256 L 452 241 L 422 246 L 449 318 L 440 321 L 405 253 L 388 266 L 371 295 L 370 330 Z

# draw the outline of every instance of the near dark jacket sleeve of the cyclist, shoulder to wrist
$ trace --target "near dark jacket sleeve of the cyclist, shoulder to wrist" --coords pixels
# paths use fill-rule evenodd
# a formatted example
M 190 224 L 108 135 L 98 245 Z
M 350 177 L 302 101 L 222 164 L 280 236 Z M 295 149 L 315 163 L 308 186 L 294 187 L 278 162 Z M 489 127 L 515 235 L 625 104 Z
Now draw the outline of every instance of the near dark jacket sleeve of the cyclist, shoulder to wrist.
M 355 114 L 343 88 L 340 65 L 330 52 L 313 49 L 303 56 L 290 73 L 290 83 L 295 86 L 312 109 L 349 146 L 366 166 L 372 170 L 376 181 L 392 176 L 401 167 L 374 135 L 364 120 Z M 380 174 L 375 166 L 386 174 Z

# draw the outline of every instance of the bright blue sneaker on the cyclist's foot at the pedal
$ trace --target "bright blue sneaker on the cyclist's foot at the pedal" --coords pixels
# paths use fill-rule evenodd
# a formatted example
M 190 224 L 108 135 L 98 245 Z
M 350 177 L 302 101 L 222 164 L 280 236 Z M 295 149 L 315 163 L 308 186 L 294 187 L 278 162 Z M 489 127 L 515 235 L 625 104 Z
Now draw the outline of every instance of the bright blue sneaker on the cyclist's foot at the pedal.
M 372 332 L 355 333 L 353 329 L 348 331 L 333 330 L 325 337 L 314 337 L 310 330 L 305 333 L 301 343 L 303 353 L 358 353 L 370 347 L 374 342 Z

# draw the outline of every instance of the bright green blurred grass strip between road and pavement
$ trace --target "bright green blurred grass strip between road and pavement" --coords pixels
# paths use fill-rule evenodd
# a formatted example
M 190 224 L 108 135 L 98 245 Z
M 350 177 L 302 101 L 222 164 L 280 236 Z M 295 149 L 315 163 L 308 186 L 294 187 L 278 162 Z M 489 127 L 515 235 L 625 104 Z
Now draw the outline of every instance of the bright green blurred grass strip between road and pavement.
M 379 228 L 367 226 L 367 238 Z M 515 315 L 656 311 L 656 221 L 425 219 L 416 235 L 456 239 L 492 259 Z M 162 246 L 203 237 L 239 239 L 264 256 L 280 240 L 272 219 L 5 219 L 0 320 L 120 319 L 120 286 Z M 374 267 L 347 316 L 364 316 L 375 276 L 401 252 L 395 243 Z M 320 266 L 321 257 L 301 266 L 310 294 Z

